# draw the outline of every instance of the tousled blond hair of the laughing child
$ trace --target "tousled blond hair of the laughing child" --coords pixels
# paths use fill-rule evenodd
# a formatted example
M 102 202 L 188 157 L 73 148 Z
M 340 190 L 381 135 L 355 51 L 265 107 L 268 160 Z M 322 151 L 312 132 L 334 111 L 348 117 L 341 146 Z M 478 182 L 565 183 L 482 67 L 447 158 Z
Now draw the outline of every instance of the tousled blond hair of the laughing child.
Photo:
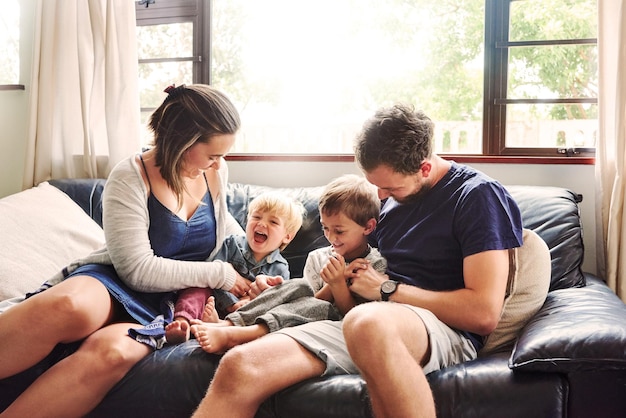
M 265 192 L 252 199 L 248 205 L 248 217 L 254 211 L 271 213 L 282 219 L 285 222 L 285 229 L 291 235 L 292 240 L 300 230 L 306 213 L 301 202 L 278 192 Z M 280 250 L 284 250 L 287 244 L 289 243 L 281 245 Z

